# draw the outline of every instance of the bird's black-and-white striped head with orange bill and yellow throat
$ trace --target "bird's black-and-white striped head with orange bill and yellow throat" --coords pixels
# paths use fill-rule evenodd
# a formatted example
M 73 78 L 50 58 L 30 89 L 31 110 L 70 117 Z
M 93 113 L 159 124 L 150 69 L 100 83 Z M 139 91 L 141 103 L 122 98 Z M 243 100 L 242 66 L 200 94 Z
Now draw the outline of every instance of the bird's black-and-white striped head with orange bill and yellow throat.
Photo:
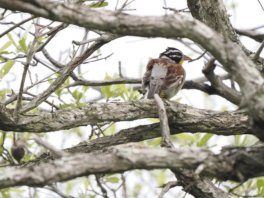
M 170 47 L 167 47 L 166 51 L 161 53 L 159 58 L 163 56 L 168 57 L 171 60 L 175 61 L 176 63 L 180 63 L 180 64 L 182 64 L 182 62 L 185 60 L 192 60 L 190 57 L 184 55 L 180 50 Z

